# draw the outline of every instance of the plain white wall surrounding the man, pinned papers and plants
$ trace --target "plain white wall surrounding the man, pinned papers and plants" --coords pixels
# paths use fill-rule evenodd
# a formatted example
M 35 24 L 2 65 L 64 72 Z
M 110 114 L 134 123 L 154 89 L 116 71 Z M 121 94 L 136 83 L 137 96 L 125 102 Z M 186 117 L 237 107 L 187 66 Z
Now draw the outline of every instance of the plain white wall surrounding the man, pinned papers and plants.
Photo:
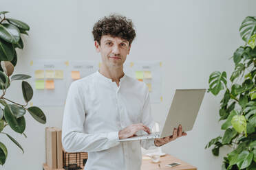
M 8 17 L 25 21 L 31 27 L 24 36 L 25 47 L 18 51 L 15 73 L 28 73 L 30 60 L 66 59 L 99 60 L 94 50 L 92 27 L 100 17 L 118 12 L 131 18 L 136 39 L 127 60 L 162 60 L 163 102 L 152 105 L 153 118 L 163 121 L 175 88 L 208 88 L 213 71 L 233 70 L 228 60 L 239 45 L 239 26 L 246 16 L 256 16 L 256 1 L 14 1 L 1 0 L 0 10 Z M 7 97 L 23 103 L 21 82 L 13 82 Z M 221 97 L 206 93 L 193 131 L 163 147 L 168 154 L 198 167 L 220 169 L 222 157 L 229 148 L 214 157 L 204 149 L 211 138 L 222 134 L 218 110 Z M 61 127 L 63 107 L 42 108 L 47 123 L 41 125 L 29 114 L 26 117 L 28 138 L 10 132 L 21 143 L 25 154 L 6 136 L 1 142 L 8 147 L 8 159 L 0 169 L 42 169 L 45 162 L 46 126 Z

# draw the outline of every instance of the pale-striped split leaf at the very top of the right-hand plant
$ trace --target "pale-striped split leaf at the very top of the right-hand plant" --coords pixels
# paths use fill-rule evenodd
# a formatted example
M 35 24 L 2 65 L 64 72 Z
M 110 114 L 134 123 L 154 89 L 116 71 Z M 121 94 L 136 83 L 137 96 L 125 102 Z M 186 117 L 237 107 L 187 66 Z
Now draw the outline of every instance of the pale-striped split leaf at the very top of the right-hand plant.
M 239 28 L 240 36 L 247 43 L 253 34 L 256 34 L 256 17 L 247 16 Z

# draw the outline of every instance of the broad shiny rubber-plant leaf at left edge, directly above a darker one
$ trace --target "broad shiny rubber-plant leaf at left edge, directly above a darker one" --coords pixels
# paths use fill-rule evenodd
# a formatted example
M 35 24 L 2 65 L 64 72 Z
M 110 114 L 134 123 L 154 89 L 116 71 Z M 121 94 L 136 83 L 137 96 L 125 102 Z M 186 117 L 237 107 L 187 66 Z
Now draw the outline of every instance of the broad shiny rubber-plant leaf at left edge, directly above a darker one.
M 0 38 L 2 38 L 3 40 L 6 40 L 7 42 L 10 42 L 12 44 L 16 44 L 17 42 L 19 42 L 20 37 L 21 34 L 19 32 L 19 29 L 14 25 L 9 23 L 0 24 Z

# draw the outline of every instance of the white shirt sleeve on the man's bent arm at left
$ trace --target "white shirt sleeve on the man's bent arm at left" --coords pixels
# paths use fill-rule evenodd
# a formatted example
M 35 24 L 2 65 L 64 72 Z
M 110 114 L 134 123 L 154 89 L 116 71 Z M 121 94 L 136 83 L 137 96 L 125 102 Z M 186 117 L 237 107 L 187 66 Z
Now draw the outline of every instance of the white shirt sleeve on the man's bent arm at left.
M 118 132 L 86 134 L 85 97 L 79 82 L 72 82 L 67 93 L 62 125 L 62 144 L 65 151 L 102 151 L 119 144 Z

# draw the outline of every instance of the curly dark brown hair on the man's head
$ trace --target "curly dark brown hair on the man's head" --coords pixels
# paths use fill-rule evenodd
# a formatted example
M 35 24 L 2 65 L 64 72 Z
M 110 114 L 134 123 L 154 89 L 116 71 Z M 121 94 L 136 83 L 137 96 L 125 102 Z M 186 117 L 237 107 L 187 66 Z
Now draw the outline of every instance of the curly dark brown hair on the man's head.
M 92 34 L 94 35 L 94 40 L 96 40 L 99 45 L 101 36 L 105 35 L 125 39 L 129 42 L 129 46 L 136 36 L 132 21 L 125 16 L 117 14 L 111 14 L 100 19 L 94 24 Z

